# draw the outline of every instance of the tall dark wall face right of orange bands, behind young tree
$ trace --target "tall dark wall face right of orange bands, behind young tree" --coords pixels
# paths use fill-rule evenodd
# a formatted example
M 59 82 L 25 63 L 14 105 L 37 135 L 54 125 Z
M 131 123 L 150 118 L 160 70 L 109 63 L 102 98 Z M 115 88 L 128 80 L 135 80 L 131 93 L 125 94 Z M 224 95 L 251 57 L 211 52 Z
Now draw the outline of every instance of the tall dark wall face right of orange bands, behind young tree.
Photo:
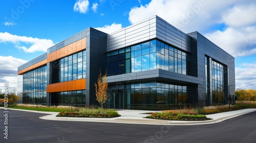
M 106 53 L 106 35 L 93 28 L 87 29 L 86 35 L 86 101 L 87 105 L 98 105 L 95 95 L 95 85 L 99 71 L 105 73 L 104 62 Z M 89 95 L 89 96 L 88 96 Z

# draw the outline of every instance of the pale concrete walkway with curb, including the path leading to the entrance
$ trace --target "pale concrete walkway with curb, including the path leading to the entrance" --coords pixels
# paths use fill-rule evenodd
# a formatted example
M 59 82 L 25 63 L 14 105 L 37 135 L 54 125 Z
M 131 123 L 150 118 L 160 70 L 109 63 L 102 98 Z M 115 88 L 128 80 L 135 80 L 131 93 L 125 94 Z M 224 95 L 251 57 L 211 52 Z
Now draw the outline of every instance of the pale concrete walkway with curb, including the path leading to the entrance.
M 41 112 L 32 110 L 21 110 L 21 109 L 11 109 L 9 110 L 20 110 L 29 111 L 37 113 L 50 114 L 46 116 L 40 116 L 39 118 L 44 120 L 53 121 L 79 121 L 79 122 L 103 122 L 103 123 L 123 123 L 123 124 L 143 124 L 143 125 L 201 125 L 201 124 L 213 124 L 222 122 L 232 117 L 240 116 L 246 113 L 254 112 L 256 109 L 243 109 L 229 112 L 222 112 L 216 114 L 206 115 L 212 120 L 208 121 L 168 121 L 168 120 L 154 120 L 149 118 L 143 118 L 147 116 L 148 112 L 156 111 L 146 111 L 146 110 L 118 110 L 117 112 L 121 115 L 120 117 L 114 118 L 90 118 L 90 117 L 56 117 L 58 112 Z

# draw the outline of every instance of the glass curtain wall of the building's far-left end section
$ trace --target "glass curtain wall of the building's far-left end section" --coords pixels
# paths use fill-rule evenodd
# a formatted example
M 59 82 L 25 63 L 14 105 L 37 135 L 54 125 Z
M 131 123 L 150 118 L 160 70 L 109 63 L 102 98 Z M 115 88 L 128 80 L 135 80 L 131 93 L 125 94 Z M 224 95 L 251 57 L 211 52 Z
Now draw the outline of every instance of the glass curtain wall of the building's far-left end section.
M 23 75 L 23 103 L 46 104 L 47 66 Z

